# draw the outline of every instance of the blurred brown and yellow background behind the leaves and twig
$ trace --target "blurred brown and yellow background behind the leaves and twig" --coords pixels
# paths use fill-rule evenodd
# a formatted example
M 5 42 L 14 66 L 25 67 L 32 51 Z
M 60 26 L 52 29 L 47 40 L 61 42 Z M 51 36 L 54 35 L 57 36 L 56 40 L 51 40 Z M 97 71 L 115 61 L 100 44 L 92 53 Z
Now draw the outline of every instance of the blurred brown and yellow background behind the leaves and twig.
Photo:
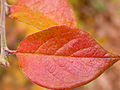
M 17 0 L 7 0 L 15 4 Z M 78 27 L 90 33 L 106 50 L 120 55 L 120 0 L 69 0 Z M 15 50 L 20 41 L 36 28 L 6 18 L 8 47 Z M 0 67 L 0 90 L 48 90 L 29 81 L 21 72 L 18 60 L 10 56 L 10 67 Z M 72 90 L 120 90 L 120 61 L 96 80 Z

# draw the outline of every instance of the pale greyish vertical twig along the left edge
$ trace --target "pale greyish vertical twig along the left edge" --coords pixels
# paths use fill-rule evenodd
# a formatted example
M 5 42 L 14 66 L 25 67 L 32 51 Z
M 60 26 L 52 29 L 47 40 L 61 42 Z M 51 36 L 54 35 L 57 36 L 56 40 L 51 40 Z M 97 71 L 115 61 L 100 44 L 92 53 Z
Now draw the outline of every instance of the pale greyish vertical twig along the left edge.
M 0 18 L 0 33 L 1 33 L 1 59 L 0 63 L 3 66 L 8 66 L 7 61 L 7 44 L 6 44 L 6 33 L 5 33 L 5 0 L 1 0 L 1 18 Z

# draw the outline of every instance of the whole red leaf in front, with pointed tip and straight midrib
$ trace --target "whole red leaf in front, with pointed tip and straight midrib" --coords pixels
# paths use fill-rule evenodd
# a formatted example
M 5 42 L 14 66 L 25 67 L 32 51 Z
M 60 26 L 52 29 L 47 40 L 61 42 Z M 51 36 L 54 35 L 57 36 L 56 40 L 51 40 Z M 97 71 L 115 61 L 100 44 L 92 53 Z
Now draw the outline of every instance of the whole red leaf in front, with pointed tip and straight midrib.
M 17 57 L 28 78 L 51 89 L 86 84 L 120 59 L 104 50 L 88 33 L 67 26 L 28 36 L 18 47 Z

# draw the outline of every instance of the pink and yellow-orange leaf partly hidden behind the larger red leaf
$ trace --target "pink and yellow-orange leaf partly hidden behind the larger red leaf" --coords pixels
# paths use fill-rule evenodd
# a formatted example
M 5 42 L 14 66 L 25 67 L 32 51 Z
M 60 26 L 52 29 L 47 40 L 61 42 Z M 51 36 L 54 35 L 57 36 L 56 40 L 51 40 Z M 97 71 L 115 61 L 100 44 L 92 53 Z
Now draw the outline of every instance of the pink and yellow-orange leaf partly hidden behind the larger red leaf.
M 39 29 L 55 25 L 76 26 L 67 0 L 18 0 L 10 7 L 10 17 Z

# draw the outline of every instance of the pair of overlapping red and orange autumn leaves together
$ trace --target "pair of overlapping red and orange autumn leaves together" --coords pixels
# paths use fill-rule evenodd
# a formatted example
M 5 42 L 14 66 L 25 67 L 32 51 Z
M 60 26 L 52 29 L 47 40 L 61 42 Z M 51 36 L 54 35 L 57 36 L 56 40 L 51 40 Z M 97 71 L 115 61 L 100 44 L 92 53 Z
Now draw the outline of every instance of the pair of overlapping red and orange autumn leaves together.
M 24 74 L 40 86 L 61 90 L 84 85 L 120 59 L 77 28 L 67 0 L 18 0 L 10 13 L 40 29 L 17 49 Z

